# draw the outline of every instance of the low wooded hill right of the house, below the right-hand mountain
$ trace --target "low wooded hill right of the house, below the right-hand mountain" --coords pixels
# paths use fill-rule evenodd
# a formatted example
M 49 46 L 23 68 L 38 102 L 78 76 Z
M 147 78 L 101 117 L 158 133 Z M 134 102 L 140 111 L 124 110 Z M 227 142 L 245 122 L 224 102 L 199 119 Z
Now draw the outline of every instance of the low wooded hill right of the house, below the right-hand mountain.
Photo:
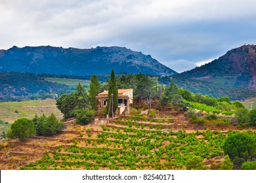
M 166 85 L 173 82 L 180 88 L 184 88 L 193 93 L 201 93 L 216 98 L 229 97 L 232 101 L 256 97 L 256 92 L 253 90 L 207 82 L 204 80 L 185 78 L 181 75 L 160 77 L 158 78 L 158 82 Z

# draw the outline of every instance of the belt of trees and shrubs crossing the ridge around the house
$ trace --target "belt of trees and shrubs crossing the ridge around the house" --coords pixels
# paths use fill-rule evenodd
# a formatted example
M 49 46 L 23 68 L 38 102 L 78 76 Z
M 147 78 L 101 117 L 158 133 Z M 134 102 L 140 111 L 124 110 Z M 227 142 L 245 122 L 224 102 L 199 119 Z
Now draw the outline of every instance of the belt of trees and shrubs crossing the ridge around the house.
M 56 105 L 57 108 L 64 114 L 64 118 L 72 118 L 76 117 L 76 121 L 78 124 L 88 124 L 92 118 L 95 116 L 98 106 L 98 101 L 96 101 L 96 95 L 102 92 L 103 90 L 108 90 L 108 101 L 110 101 L 111 94 L 113 93 L 113 105 L 107 105 L 104 109 L 105 111 L 113 111 L 115 112 L 117 109 L 117 88 L 133 88 L 134 90 L 134 99 L 146 101 L 147 108 L 151 108 L 152 100 L 159 101 L 156 108 L 161 109 L 161 107 L 169 105 L 174 107 L 176 110 L 187 110 L 187 107 L 194 108 L 196 104 L 200 104 L 202 108 L 213 107 L 216 109 L 211 111 L 213 113 L 219 114 L 226 112 L 226 114 L 233 114 L 235 117 L 234 121 L 238 125 L 256 125 L 256 110 L 247 110 L 244 106 L 239 102 L 231 102 L 228 97 L 221 97 L 216 99 L 215 97 L 209 97 L 208 95 L 202 95 L 200 93 L 192 93 L 188 90 L 184 90 L 182 88 L 178 88 L 173 82 L 169 84 L 167 87 L 163 87 L 158 85 L 154 78 L 149 75 L 142 75 L 141 73 L 137 75 L 122 75 L 119 78 L 116 78 L 114 71 L 111 73 L 110 80 L 106 80 L 106 83 L 101 86 L 98 81 L 98 77 L 96 75 L 91 76 L 91 83 L 89 86 L 89 92 L 81 86 L 81 84 L 77 85 L 77 88 L 74 92 L 64 93 L 57 100 Z M 140 107 L 140 106 L 134 106 Z M 142 106 L 143 107 L 143 106 Z M 198 106 L 196 106 L 198 107 Z M 210 108 L 211 109 L 211 108 Z M 230 112 L 230 113 L 228 113 Z M 112 114 L 110 113 L 110 116 Z M 192 114 L 192 119 L 194 114 Z M 209 118 L 208 118 L 209 117 Z M 207 119 L 213 120 L 216 116 L 207 116 Z M 194 122 L 202 123 L 203 120 L 198 120 L 197 117 L 194 119 Z M 18 122 L 14 122 L 11 127 L 11 131 L 9 131 L 9 137 L 20 137 L 20 133 L 22 136 L 30 137 L 34 134 L 32 129 L 35 128 L 35 133 L 37 135 L 53 135 L 60 131 L 63 127 L 58 124 L 58 120 L 56 120 L 56 116 L 52 114 L 51 116 L 40 116 L 32 119 L 30 122 L 28 119 L 22 118 L 19 122 L 20 124 L 25 125 L 19 133 L 15 132 L 16 129 L 20 128 Z M 32 125 L 33 124 L 33 125 Z M 33 127 L 32 127 L 33 126 Z M 14 135 L 16 134 L 16 135 Z M 18 134 L 18 135 L 17 135 Z M 22 139 L 24 140 L 24 139 Z

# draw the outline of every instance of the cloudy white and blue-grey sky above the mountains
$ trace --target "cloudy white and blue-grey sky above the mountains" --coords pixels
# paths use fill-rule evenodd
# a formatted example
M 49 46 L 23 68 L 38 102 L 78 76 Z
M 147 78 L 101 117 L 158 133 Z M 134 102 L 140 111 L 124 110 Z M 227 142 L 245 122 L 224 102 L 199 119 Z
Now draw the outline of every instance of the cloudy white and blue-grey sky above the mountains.
M 123 46 L 182 72 L 256 44 L 255 0 L 0 0 L 0 49 Z

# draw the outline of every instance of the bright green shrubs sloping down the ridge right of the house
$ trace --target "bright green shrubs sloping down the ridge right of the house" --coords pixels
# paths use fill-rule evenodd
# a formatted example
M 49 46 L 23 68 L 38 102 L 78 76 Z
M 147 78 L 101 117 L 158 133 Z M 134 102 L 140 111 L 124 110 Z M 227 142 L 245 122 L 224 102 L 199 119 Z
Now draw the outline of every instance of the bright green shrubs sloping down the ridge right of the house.
M 207 122 L 219 126 L 234 124 L 240 126 L 255 125 L 256 110 L 247 110 L 242 103 L 236 101 L 232 103 L 228 97 L 209 97 L 200 93 L 192 93 L 188 90 L 178 88 L 175 84 L 171 83 L 165 87 L 163 95 L 160 98 L 162 105 L 169 105 L 177 110 L 184 110 L 186 107 L 190 108 L 187 113 L 188 117 L 192 118 L 192 122 L 196 124 L 205 124 Z M 200 110 L 198 115 L 193 114 L 192 110 Z M 202 112 L 208 114 L 202 117 Z M 225 119 L 215 114 L 223 114 L 224 116 L 232 116 L 232 118 Z M 232 119 L 232 120 L 231 120 Z

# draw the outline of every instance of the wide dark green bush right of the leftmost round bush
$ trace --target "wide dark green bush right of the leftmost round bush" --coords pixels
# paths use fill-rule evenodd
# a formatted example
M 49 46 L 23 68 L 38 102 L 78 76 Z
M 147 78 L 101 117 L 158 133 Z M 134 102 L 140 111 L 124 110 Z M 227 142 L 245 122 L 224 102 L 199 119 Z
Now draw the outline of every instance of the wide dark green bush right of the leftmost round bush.
M 58 121 L 56 116 L 52 113 L 50 116 L 37 116 L 32 119 L 35 125 L 37 135 L 55 135 L 63 129 L 63 124 Z

